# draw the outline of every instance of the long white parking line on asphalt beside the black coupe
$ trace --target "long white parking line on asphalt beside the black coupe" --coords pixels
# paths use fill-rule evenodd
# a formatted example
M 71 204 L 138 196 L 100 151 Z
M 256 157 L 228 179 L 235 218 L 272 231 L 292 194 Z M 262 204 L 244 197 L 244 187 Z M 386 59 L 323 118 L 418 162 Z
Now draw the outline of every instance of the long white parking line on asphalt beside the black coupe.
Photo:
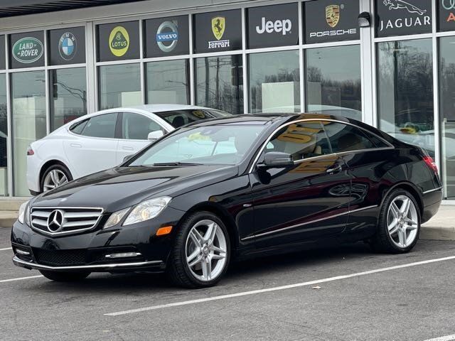
M 323 279 L 318 279 L 316 281 L 309 281 L 309 282 L 303 282 L 303 283 L 290 284 L 290 285 L 287 285 L 287 286 L 276 286 L 276 287 L 273 287 L 273 288 L 266 288 L 266 289 L 253 290 L 253 291 L 244 291 L 242 293 L 232 293 L 230 295 L 214 296 L 214 297 L 208 297 L 208 298 L 199 298 L 197 300 L 191 300 L 191 301 L 182 301 L 182 302 L 175 302 L 175 303 L 168 303 L 168 304 L 161 304 L 161 305 L 152 305 L 151 307 L 138 308 L 138 309 L 132 309 L 132 310 L 124 310 L 124 311 L 119 311 L 117 313 L 107 313 L 105 315 L 107 315 L 107 316 L 127 315 L 127 314 L 132 314 L 132 313 L 140 313 L 142 311 L 148 311 L 148 310 L 158 310 L 158 309 L 163 309 L 163 308 L 177 307 L 177 306 L 180 306 L 180 305 L 189 305 L 189 304 L 203 303 L 203 302 L 208 302 L 208 301 L 219 301 L 219 300 L 224 300 L 224 299 L 227 299 L 227 298 L 235 298 L 235 297 L 240 297 L 240 296 L 255 295 L 257 293 L 269 293 L 271 291 L 280 291 L 280 290 L 286 290 L 286 289 L 291 289 L 291 288 L 299 288 L 299 287 L 302 287 L 302 286 L 313 286 L 313 285 L 319 284 L 319 283 L 338 281 L 340 279 L 352 278 L 352 277 L 358 277 L 358 276 L 365 276 L 365 275 L 370 275 L 370 274 L 378 274 L 379 272 L 391 271 L 391 270 L 402 269 L 402 268 L 409 268 L 410 266 L 417 266 L 417 265 L 423 265 L 423 264 L 436 263 L 437 261 L 449 261 L 451 259 L 455 259 L 455 256 L 449 256 L 449 257 L 438 258 L 438 259 L 429 259 L 427 261 L 416 261 L 414 263 L 409 263 L 409 264 L 402 264 L 402 265 L 390 266 L 390 267 L 382 268 L 382 269 L 363 271 L 363 272 L 358 272 L 356 274 L 348 274 L 348 275 L 343 275 L 343 276 L 323 278 Z M 449 340 L 452 340 L 452 339 L 449 339 Z

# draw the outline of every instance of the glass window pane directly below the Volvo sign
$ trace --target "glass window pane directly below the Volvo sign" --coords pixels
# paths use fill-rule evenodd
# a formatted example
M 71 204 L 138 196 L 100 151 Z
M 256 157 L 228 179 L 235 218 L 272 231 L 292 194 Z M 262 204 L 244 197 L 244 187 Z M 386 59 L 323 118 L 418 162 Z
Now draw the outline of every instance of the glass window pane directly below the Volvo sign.
M 190 104 L 188 60 L 146 63 L 147 104 Z

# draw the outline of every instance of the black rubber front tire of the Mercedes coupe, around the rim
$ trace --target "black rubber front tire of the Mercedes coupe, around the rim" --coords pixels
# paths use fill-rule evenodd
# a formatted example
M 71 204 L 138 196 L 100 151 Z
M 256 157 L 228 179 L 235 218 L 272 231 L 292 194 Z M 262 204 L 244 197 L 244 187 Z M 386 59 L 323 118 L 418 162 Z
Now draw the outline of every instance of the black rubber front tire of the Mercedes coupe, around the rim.
M 225 235 L 227 246 L 224 269 L 216 278 L 211 281 L 200 281 L 198 278 L 193 276 L 186 262 L 186 240 L 188 238 L 188 234 L 190 233 L 192 227 L 201 220 L 213 220 L 213 222 L 216 222 L 216 224 L 218 224 L 218 227 L 220 227 Z M 168 274 L 168 277 L 171 279 L 171 281 L 173 281 L 173 283 L 175 283 L 177 286 L 182 286 L 183 288 L 208 288 L 210 286 L 215 286 L 215 284 L 218 283 L 221 278 L 223 278 L 226 271 L 228 270 L 230 251 L 228 229 L 226 229 L 223 221 L 211 212 L 195 212 L 192 215 L 186 217 L 186 219 L 178 225 L 176 239 L 168 259 L 166 273 Z

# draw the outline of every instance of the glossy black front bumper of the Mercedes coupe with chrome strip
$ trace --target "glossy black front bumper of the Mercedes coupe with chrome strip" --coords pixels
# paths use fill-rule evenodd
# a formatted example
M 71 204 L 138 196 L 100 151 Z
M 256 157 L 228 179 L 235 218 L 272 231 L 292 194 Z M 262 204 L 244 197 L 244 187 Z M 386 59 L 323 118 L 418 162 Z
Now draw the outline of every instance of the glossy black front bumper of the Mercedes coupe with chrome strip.
M 175 226 L 183 214 L 168 207 L 159 219 L 127 227 L 95 227 L 65 236 L 48 236 L 16 222 L 11 231 L 13 263 L 45 271 L 162 272 L 173 246 Z M 99 226 L 105 220 L 107 216 Z M 163 226 L 174 228 L 171 234 L 157 237 L 156 231 Z

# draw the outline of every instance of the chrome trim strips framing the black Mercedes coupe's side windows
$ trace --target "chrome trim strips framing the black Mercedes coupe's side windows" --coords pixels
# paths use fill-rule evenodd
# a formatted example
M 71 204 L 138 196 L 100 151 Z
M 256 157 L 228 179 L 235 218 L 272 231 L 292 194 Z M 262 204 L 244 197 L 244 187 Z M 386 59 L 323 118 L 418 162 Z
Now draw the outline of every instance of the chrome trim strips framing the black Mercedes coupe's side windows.
M 264 144 L 262 144 L 262 147 L 259 149 L 259 152 L 256 154 L 256 156 L 254 158 L 254 161 L 252 163 L 252 166 L 250 168 L 250 171 L 248 173 L 251 174 L 251 173 L 253 173 L 255 171 L 255 168 L 257 166 L 257 161 L 259 161 L 259 157 L 261 156 L 262 152 L 264 151 L 264 148 L 267 146 L 267 144 L 270 142 L 270 140 L 272 140 L 272 137 L 275 134 L 277 134 L 277 132 L 279 130 L 283 129 L 286 126 L 290 126 L 291 124 L 296 124 L 296 123 L 301 123 L 301 122 L 309 122 L 309 121 L 330 121 L 330 122 L 335 122 L 335 123 L 346 124 L 348 126 L 354 126 L 355 128 L 358 128 L 358 129 L 361 129 L 363 131 L 367 131 L 370 134 L 373 134 L 378 139 L 380 139 L 380 141 L 382 141 L 385 144 L 387 144 L 388 147 L 378 147 L 378 148 L 370 148 L 370 149 L 356 149 L 356 150 L 353 150 L 353 151 L 342 151 L 340 153 L 330 153 L 330 154 L 324 154 L 324 155 L 321 155 L 321 156 L 312 156 L 311 158 L 302 158 L 300 160 L 296 160 L 296 161 L 294 161 L 294 164 L 301 163 L 303 161 L 313 160 L 315 158 L 326 158 L 328 156 L 338 156 L 338 155 L 344 155 L 344 154 L 347 154 L 347 153 L 359 153 L 359 152 L 365 152 L 365 151 L 382 151 L 382 150 L 388 150 L 388 149 L 395 148 L 395 146 L 390 144 L 390 142 L 385 141 L 385 139 L 383 139 L 381 136 L 378 136 L 377 134 L 375 134 L 375 133 L 373 133 L 371 131 L 368 131 L 368 129 L 362 128 L 361 126 L 356 126 L 355 124 L 352 124 L 350 122 L 343 122 L 343 121 L 339 121 L 338 119 L 299 119 L 299 120 L 296 120 L 296 121 L 288 122 L 287 124 L 283 124 L 282 126 L 279 126 L 277 129 L 272 131 L 272 134 L 269 135 L 267 140 L 264 142 Z M 367 139 L 368 139 L 368 137 L 367 137 Z M 328 139 L 328 143 L 330 143 L 330 139 Z

